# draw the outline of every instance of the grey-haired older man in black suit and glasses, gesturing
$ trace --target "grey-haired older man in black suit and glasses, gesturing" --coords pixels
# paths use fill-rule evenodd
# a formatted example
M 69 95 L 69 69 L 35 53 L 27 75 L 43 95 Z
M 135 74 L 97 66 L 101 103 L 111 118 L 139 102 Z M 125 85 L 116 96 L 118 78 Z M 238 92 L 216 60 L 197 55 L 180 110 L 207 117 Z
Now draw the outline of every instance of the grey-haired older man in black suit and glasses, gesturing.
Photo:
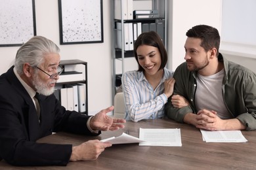
M 87 141 L 72 144 L 36 143 L 57 131 L 99 135 L 124 127 L 125 120 L 66 110 L 54 96 L 61 69 L 59 48 L 45 37 L 35 36 L 22 45 L 14 66 L 0 76 L 0 158 L 12 165 L 66 165 L 69 161 L 95 160 L 111 143 Z M 39 96 L 39 97 L 37 97 Z

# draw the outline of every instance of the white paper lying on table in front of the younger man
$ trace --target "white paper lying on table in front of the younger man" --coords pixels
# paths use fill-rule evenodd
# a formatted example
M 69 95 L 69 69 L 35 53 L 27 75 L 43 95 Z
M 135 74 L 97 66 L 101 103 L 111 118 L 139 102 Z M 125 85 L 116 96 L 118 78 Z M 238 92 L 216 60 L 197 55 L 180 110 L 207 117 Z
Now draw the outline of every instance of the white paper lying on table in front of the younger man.
M 245 143 L 247 140 L 239 130 L 234 131 L 207 131 L 200 129 L 203 141 L 207 143 Z

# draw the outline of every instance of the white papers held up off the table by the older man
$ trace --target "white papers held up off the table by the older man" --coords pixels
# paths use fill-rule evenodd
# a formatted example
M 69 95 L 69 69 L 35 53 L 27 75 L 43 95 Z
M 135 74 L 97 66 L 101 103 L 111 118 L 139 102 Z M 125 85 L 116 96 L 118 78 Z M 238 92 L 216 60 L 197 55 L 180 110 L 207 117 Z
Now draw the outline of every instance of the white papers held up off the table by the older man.
M 103 143 L 108 142 L 112 144 L 125 144 L 125 143 L 140 143 L 143 142 L 143 140 L 140 140 L 137 137 L 133 137 L 131 135 L 127 135 L 126 133 L 123 133 L 119 137 L 110 137 L 108 139 L 101 140 Z

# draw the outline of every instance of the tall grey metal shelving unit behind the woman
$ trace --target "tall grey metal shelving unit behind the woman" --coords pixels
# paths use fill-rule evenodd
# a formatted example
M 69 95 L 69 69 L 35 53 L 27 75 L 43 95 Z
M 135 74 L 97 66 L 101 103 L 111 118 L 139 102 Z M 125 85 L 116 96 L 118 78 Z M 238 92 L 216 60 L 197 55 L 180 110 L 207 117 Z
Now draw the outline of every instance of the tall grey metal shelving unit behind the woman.
M 160 35 L 160 37 L 163 39 L 163 43 L 165 44 L 165 46 L 167 46 L 167 31 L 166 31 L 166 27 L 167 27 L 167 22 L 166 22 L 166 18 L 167 18 L 167 1 L 166 0 L 151 0 L 151 1 L 142 1 L 140 0 L 140 4 L 143 3 L 148 3 L 150 2 L 150 9 L 144 9 L 144 7 L 142 7 L 142 9 L 139 9 L 140 7 L 135 7 L 135 4 L 138 4 L 137 2 L 139 2 L 139 0 L 133 0 L 133 10 L 158 10 L 158 17 L 157 18 L 139 18 L 139 19 L 129 19 L 129 20 L 125 20 L 124 19 L 124 15 L 123 12 L 125 11 L 124 6 L 126 5 L 125 3 L 127 3 L 127 1 L 129 0 L 113 0 L 111 7 L 112 7 L 112 67 L 113 67 L 113 73 L 112 73 L 112 97 L 113 97 L 113 103 L 114 103 L 114 96 L 116 95 L 116 89 L 117 86 L 119 86 L 121 84 L 121 75 L 123 73 L 125 73 L 125 59 L 127 58 L 133 58 L 134 54 L 133 54 L 133 50 L 125 50 L 125 31 L 124 31 L 124 25 L 127 23 L 132 23 L 132 24 L 137 24 L 137 23 L 141 23 L 142 27 L 145 24 L 163 24 L 163 33 L 162 35 Z M 136 2 L 137 1 L 137 2 Z M 118 3 L 118 5 L 121 5 L 121 9 L 117 9 L 115 10 L 115 3 Z M 120 17 L 121 19 L 116 19 L 115 16 L 115 12 L 121 12 Z M 127 12 L 127 15 L 128 12 Z M 121 29 L 117 29 L 117 22 L 121 23 Z M 120 24 L 119 24 L 120 25 Z M 146 29 L 144 29 L 146 30 Z M 144 30 L 142 29 L 142 33 L 144 32 Z M 152 30 L 149 30 L 152 31 Z M 158 32 L 157 30 L 153 30 Z M 117 32 L 119 33 L 119 36 L 117 36 Z M 121 32 L 121 33 L 120 33 Z M 139 35 L 137 35 L 139 36 Z M 121 48 L 117 48 L 117 37 L 121 37 L 121 45 L 119 44 L 118 46 L 121 46 Z M 120 39 L 118 40 L 120 42 Z M 133 43 L 135 41 L 133 40 Z M 117 68 L 117 61 L 121 61 L 121 74 L 116 73 L 116 68 Z

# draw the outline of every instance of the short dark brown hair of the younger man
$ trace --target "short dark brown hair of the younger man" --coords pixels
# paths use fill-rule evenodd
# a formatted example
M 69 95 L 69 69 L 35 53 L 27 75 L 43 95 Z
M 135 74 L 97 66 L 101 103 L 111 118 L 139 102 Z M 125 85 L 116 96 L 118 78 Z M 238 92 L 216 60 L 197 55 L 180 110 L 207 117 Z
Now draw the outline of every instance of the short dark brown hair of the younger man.
M 217 49 L 217 56 L 219 56 L 219 45 L 221 37 L 219 31 L 215 27 L 209 25 L 196 25 L 186 32 L 187 37 L 199 38 L 202 40 L 200 46 L 207 52 L 211 48 Z

